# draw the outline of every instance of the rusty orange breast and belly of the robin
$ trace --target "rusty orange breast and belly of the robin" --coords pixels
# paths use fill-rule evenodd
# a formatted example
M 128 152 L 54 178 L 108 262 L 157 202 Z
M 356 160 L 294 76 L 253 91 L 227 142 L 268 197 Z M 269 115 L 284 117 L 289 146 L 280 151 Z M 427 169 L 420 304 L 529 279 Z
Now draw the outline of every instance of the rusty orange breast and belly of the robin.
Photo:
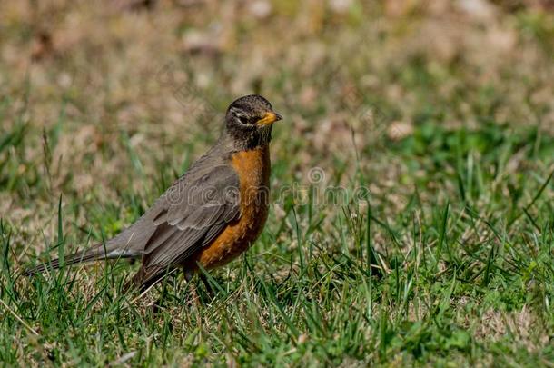
M 240 179 L 241 216 L 229 224 L 213 244 L 194 257 L 206 269 L 227 264 L 242 254 L 262 233 L 269 208 L 269 147 L 255 148 L 232 156 L 232 167 Z

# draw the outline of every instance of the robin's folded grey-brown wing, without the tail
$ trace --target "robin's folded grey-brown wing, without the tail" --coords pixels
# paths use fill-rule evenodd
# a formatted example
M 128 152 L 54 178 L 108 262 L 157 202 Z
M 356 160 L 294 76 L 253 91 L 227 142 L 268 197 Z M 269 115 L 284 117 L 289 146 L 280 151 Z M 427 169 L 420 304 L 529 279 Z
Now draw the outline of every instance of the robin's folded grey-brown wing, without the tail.
M 143 271 L 149 276 L 149 269 L 156 274 L 183 264 L 240 215 L 239 177 L 231 166 L 216 165 L 183 179 L 156 206 L 156 229 L 143 248 Z

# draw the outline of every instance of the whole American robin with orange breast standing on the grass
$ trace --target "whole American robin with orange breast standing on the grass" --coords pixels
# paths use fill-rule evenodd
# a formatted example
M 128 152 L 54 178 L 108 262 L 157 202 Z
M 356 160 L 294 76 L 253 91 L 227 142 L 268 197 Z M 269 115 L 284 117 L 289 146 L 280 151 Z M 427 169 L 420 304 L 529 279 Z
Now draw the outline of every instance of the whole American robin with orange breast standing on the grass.
M 260 95 L 234 101 L 217 143 L 140 219 L 105 244 L 65 258 L 64 264 L 140 257 L 142 266 L 131 283 L 144 289 L 175 268 L 191 274 L 199 264 L 210 270 L 242 254 L 267 220 L 269 143 L 272 124 L 281 119 Z M 55 259 L 25 274 L 61 265 Z

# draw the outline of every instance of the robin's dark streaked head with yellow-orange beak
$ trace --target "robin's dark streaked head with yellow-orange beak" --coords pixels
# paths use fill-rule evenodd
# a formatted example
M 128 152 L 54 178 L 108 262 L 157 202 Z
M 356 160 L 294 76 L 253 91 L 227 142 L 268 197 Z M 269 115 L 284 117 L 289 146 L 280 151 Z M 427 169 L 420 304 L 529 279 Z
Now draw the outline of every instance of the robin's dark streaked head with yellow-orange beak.
M 253 148 L 269 144 L 272 138 L 272 124 L 282 120 L 272 110 L 272 104 L 261 95 L 250 94 L 235 101 L 225 114 L 225 127 L 237 144 Z

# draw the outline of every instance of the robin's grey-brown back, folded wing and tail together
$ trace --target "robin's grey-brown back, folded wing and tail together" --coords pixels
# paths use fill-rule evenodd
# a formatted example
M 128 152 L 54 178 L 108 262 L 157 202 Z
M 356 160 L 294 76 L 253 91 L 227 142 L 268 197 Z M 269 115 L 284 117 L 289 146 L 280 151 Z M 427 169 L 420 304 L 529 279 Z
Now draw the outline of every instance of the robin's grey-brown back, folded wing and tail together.
M 146 283 L 168 267 L 183 264 L 240 216 L 239 177 L 219 157 L 218 152 L 205 154 L 136 223 L 106 244 L 68 255 L 64 264 L 142 256 L 143 268 L 135 276 L 136 283 Z M 59 265 L 54 259 L 24 274 Z

